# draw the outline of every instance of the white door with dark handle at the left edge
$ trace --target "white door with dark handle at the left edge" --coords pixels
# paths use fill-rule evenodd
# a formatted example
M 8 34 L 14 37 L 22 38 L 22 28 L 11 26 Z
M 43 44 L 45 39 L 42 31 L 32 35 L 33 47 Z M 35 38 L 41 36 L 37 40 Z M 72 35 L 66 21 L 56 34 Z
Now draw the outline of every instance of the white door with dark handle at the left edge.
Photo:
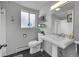
M 6 55 L 6 13 L 0 8 L 0 57 Z

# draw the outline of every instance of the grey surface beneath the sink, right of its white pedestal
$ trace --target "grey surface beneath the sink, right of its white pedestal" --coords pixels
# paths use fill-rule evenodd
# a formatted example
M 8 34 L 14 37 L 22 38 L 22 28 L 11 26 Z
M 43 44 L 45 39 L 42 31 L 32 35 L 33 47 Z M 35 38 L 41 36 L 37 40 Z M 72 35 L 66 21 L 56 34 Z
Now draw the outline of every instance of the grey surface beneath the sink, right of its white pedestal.
M 71 44 L 65 49 L 58 48 L 58 57 L 76 57 L 75 44 Z

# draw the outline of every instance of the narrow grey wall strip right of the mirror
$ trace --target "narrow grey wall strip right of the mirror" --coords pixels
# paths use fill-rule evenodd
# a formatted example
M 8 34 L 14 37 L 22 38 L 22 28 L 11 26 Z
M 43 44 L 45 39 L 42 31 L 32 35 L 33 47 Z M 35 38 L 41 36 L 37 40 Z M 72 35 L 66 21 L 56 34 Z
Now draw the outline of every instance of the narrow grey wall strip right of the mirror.
M 74 11 L 73 11 L 73 22 L 74 22 L 74 37 L 76 40 L 79 40 L 79 2 L 74 2 Z

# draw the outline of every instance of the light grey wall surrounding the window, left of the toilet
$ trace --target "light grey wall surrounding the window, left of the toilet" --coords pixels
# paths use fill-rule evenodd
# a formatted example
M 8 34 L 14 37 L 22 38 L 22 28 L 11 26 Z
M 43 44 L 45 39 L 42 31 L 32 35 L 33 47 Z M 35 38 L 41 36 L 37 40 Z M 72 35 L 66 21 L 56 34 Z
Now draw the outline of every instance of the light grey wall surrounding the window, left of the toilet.
M 11 2 L 1 2 L 3 8 L 6 9 L 6 37 L 7 37 L 7 55 L 16 53 L 18 51 L 28 49 L 28 42 L 37 39 L 37 28 L 32 29 L 21 29 L 21 9 L 36 13 L 37 10 L 25 8 L 23 6 L 11 3 Z M 14 22 L 12 22 L 12 17 Z M 36 18 L 37 26 L 37 18 Z M 24 38 L 23 34 L 27 34 Z

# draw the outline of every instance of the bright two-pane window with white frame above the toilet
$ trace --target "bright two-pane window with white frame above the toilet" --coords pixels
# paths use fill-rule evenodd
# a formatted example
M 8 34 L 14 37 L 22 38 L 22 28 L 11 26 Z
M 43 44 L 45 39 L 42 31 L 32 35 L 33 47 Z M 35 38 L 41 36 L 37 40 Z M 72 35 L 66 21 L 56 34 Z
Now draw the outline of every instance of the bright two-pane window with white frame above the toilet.
M 21 11 L 21 28 L 35 27 L 35 14 Z

